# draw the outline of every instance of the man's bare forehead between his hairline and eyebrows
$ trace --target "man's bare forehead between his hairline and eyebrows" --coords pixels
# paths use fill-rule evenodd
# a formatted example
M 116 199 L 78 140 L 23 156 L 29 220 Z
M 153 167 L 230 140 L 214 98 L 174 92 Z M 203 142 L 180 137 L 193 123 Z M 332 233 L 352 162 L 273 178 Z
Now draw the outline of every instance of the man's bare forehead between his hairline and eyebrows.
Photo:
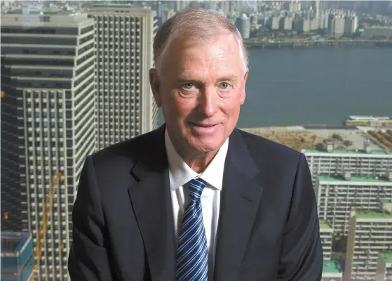
M 203 44 L 177 40 L 168 53 L 168 72 L 172 75 L 237 75 L 242 72 L 242 60 L 236 38 L 222 34 Z

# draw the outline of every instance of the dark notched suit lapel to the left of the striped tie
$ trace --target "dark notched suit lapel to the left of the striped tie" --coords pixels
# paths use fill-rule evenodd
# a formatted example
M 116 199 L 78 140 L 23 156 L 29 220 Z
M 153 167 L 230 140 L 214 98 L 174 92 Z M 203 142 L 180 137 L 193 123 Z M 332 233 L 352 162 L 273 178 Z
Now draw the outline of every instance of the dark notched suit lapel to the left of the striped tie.
M 152 280 L 175 279 L 175 236 L 164 126 L 144 141 L 131 173 L 138 181 L 128 188 L 142 233 Z

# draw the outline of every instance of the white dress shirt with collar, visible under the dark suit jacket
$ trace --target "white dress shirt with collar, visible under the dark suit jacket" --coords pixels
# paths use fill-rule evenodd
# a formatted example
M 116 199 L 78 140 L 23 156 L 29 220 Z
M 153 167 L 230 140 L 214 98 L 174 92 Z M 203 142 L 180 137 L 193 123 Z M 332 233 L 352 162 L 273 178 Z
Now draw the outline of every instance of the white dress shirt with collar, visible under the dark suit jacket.
M 224 162 L 229 148 L 229 138 L 208 164 L 203 173 L 193 171 L 175 150 L 165 130 L 165 148 L 168 155 L 170 191 L 173 204 L 175 237 L 178 243 L 184 209 L 188 203 L 188 188 L 186 183 L 193 178 L 202 178 L 207 185 L 201 194 L 201 208 L 208 247 L 208 280 L 213 280 L 215 264 L 216 235 L 219 218 L 220 192 L 222 191 Z M 177 247 L 177 244 L 176 244 Z

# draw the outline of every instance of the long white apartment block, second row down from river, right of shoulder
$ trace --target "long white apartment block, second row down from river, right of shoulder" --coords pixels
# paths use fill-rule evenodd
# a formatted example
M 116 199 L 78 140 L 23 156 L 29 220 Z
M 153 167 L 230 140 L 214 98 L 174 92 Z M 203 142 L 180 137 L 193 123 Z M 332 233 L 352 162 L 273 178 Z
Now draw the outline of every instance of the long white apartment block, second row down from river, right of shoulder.
M 392 199 L 392 172 L 386 177 L 318 175 L 315 185 L 318 216 L 329 223 L 336 235 L 349 231 L 353 207 L 376 211 L 379 198 Z

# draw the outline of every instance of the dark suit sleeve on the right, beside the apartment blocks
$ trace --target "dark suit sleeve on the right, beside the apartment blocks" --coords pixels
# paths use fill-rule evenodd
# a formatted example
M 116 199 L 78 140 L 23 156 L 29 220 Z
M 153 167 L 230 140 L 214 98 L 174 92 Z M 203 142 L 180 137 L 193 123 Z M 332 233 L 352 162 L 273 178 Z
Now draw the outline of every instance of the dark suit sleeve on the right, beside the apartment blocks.
M 301 153 L 283 235 L 279 281 L 321 280 L 323 248 L 319 232 L 311 173 Z

